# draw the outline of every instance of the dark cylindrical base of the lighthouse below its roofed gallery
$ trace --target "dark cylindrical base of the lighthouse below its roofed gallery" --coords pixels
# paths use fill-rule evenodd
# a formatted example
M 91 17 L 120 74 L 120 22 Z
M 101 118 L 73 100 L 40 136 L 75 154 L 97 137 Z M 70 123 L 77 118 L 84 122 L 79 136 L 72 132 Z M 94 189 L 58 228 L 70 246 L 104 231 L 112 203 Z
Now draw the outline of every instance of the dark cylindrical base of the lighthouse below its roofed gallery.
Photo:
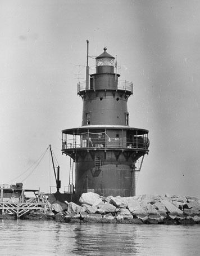
M 135 171 L 129 162 L 114 164 L 103 162 L 94 167 L 94 162 L 77 162 L 75 169 L 75 197 L 94 192 L 101 196 L 135 196 Z

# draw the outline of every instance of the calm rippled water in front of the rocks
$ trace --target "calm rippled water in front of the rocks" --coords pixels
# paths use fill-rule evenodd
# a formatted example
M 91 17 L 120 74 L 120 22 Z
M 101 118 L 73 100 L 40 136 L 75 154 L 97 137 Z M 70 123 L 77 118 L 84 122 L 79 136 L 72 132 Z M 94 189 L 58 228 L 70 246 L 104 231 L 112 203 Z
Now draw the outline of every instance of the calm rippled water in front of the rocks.
M 0 255 L 199 255 L 200 226 L 0 220 Z

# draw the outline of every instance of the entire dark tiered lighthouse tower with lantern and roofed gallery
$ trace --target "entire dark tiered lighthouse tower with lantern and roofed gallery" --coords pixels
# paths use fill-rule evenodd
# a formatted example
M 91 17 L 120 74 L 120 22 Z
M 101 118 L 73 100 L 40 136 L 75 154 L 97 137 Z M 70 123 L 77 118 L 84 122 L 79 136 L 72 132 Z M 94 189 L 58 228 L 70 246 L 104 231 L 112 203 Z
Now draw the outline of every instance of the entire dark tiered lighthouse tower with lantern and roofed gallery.
M 71 192 L 75 198 L 85 192 L 134 196 L 135 173 L 149 151 L 148 130 L 129 126 L 127 102 L 133 83 L 119 80 L 116 58 L 104 47 L 96 57 L 96 72 L 89 74 L 88 48 L 87 40 L 86 81 L 78 83 L 82 123 L 62 130 L 62 153 L 70 156 L 74 166 L 70 167 L 70 179 L 75 175 Z

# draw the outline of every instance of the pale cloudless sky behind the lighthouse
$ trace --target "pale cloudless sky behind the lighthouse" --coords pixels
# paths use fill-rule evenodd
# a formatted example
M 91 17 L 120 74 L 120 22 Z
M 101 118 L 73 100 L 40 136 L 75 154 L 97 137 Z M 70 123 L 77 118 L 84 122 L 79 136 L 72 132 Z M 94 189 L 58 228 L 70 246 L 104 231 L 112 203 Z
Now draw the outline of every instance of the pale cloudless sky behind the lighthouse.
M 117 55 L 134 84 L 129 125 L 149 130 L 137 194 L 199 196 L 199 11 L 194 0 L 1 0 L 0 183 L 49 192 L 49 151 L 34 166 L 51 144 L 68 185 L 61 130 L 81 126 L 89 39 L 90 56 Z

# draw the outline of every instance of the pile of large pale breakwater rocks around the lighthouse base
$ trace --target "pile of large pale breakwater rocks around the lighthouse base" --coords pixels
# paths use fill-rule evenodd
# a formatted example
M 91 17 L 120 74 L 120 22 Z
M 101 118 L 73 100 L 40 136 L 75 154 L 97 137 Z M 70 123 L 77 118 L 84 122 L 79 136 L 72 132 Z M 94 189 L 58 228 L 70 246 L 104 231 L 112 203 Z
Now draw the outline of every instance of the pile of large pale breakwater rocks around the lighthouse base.
M 57 222 L 200 224 L 200 200 L 192 196 L 102 197 L 83 193 L 80 204 L 67 202 Z

